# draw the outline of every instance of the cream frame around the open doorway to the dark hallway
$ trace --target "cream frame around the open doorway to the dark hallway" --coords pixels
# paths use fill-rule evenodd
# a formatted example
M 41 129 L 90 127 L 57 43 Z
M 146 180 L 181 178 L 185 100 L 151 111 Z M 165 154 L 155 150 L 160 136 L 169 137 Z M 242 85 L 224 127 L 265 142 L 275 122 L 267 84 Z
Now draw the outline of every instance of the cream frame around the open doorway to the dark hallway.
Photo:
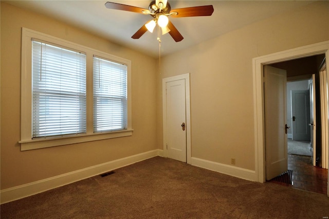
M 263 66 L 309 56 L 325 54 L 329 66 L 329 41 L 280 51 L 252 59 L 254 103 L 255 181 L 265 182 L 265 117 Z M 329 181 L 329 180 L 328 180 Z

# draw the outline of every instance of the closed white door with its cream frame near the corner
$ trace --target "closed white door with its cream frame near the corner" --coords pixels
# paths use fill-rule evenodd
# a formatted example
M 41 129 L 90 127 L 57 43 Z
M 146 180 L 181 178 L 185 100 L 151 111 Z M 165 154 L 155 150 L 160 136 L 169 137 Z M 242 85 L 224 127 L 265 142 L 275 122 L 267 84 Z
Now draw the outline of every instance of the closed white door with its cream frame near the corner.
M 163 155 L 191 164 L 190 74 L 162 79 Z

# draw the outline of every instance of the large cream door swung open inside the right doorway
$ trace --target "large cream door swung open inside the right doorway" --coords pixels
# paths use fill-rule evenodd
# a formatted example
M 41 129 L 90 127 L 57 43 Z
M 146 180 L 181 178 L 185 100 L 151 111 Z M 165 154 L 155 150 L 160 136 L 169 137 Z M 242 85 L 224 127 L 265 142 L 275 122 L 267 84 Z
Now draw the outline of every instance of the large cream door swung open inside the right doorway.
M 288 170 L 286 70 L 264 66 L 266 180 Z

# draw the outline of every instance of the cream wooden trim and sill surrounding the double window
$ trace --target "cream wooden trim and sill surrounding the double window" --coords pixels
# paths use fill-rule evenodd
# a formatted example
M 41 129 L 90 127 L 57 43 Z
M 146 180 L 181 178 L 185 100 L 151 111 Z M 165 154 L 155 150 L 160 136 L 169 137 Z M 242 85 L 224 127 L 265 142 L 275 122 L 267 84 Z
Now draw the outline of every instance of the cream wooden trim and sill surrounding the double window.
M 32 38 L 58 44 L 86 53 L 87 69 L 87 132 L 86 134 L 70 135 L 65 137 L 32 139 Z M 127 65 L 127 119 L 126 130 L 94 133 L 93 129 L 93 56 L 103 57 Z M 131 136 L 132 129 L 132 103 L 131 103 L 131 61 L 111 54 L 88 48 L 76 43 L 56 38 L 38 31 L 22 28 L 22 63 L 21 63 L 21 151 L 49 148 L 54 146 L 96 141 L 109 138 Z

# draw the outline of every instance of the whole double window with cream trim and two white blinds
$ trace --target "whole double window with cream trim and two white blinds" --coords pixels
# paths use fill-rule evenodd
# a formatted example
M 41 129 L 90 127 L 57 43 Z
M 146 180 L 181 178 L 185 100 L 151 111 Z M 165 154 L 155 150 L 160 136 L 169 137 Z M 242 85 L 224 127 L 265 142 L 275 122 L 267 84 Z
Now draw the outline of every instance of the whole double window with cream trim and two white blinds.
M 132 135 L 131 61 L 23 28 L 21 69 L 22 151 Z

